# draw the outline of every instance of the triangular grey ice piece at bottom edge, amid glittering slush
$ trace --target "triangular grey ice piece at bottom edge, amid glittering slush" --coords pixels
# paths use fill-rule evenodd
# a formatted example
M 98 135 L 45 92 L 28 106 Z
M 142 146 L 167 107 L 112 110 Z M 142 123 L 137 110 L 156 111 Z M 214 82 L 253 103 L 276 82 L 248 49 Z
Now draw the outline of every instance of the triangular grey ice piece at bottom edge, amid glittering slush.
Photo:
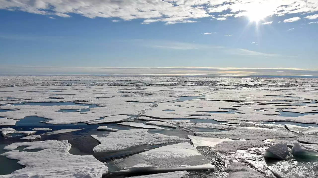
M 234 160 L 231 166 L 225 169 L 225 171 L 229 173 L 225 178 L 265 178 L 259 172 L 236 160 Z

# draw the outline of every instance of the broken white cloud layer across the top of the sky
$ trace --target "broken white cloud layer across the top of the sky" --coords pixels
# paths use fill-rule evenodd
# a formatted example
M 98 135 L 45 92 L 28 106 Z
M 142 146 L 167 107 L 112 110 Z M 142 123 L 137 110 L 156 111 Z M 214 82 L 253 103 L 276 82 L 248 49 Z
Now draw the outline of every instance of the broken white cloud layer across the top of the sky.
M 226 20 L 229 17 L 248 16 L 251 11 L 261 11 L 264 16 L 284 16 L 314 13 L 318 9 L 316 0 L 306 2 L 303 0 L 2 0 L 0 2 L 0 9 L 4 10 L 61 17 L 78 14 L 88 18 L 142 19 L 144 24 L 193 23 L 198 21 L 194 19 L 214 16 L 219 16 L 217 20 Z M 294 21 L 296 20 L 288 22 Z

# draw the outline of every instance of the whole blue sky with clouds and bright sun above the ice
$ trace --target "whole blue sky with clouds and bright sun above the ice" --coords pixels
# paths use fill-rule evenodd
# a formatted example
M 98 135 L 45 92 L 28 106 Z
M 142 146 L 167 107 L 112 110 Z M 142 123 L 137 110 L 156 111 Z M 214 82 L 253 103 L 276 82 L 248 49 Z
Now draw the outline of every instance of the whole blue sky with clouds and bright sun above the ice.
M 0 74 L 318 76 L 318 0 L 0 0 L 0 24 Z

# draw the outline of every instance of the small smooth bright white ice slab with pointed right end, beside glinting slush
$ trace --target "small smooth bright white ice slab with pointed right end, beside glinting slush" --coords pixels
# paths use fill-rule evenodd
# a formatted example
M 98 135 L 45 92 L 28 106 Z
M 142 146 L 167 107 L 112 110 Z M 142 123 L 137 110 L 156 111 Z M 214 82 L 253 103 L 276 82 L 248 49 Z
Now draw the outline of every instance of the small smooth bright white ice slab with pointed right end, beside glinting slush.
M 211 138 L 211 137 L 198 137 L 198 136 L 192 136 L 188 135 L 188 138 L 190 138 L 191 142 L 195 147 L 197 146 L 215 146 L 218 143 L 221 143 L 223 141 L 231 141 L 231 139 L 228 138 Z

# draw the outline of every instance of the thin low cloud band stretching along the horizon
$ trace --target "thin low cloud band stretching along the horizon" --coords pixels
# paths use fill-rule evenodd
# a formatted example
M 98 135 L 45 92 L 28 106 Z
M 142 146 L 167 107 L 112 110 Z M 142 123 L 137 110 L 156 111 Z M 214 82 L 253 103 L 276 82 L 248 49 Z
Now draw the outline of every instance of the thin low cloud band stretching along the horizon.
M 41 75 L 41 74 L 95 74 L 95 75 L 220 75 L 220 76 L 318 76 L 318 69 L 300 68 L 238 68 L 238 67 L 10 67 L 0 66 L 0 74 Z

